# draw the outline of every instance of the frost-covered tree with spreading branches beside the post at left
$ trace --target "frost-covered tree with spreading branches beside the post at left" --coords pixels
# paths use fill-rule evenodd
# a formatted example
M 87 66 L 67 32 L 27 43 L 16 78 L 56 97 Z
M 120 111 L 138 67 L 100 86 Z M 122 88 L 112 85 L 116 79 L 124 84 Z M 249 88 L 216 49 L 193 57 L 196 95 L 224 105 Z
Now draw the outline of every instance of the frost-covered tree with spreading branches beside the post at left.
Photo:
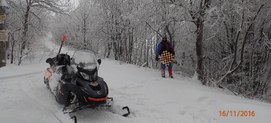
M 19 16 L 14 17 L 10 15 L 15 20 L 22 20 L 19 25 L 13 26 L 14 31 L 18 31 L 20 33 L 20 38 L 16 41 L 19 44 L 20 52 L 19 52 L 19 63 L 22 62 L 23 58 L 29 53 L 31 49 L 29 46 L 33 43 L 34 33 L 38 33 L 41 30 L 40 27 L 43 27 L 43 18 L 51 14 L 50 12 L 55 13 L 66 13 L 69 11 L 69 7 L 71 6 L 69 0 L 8 0 L 8 3 L 11 6 L 10 11 L 16 12 L 16 15 Z M 68 7 L 67 7 L 68 6 Z M 39 24 L 34 24 L 35 22 Z M 18 24 L 18 22 L 15 22 Z M 37 27 L 36 27 L 37 26 Z M 34 30 L 31 28 L 34 27 Z M 33 32 L 30 32 L 33 31 Z M 13 32 L 13 31 L 11 31 Z M 12 41 L 13 43 L 16 43 Z

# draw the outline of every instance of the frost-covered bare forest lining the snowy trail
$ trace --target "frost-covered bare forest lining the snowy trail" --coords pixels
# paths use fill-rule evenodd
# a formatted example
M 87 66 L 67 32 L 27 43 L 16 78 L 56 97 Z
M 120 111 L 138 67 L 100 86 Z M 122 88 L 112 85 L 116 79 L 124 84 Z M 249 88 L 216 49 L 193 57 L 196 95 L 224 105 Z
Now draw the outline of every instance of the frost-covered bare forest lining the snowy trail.
M 6 2 L 10 63 L 31 61 L 48 51 L 42 39 L 57 47 L 66 34 L 65 47 L 159 69 L 155 50 L 167 34 L 174 74 L 271 103 L 271 0 Z

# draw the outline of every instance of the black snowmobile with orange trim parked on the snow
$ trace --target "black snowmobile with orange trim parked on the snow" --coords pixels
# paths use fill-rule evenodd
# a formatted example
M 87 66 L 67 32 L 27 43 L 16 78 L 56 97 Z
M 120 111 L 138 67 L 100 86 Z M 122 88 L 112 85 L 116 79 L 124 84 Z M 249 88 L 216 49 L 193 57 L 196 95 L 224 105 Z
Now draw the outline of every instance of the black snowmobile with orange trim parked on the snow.
M 55 95 L 56 101 L 63 105 L 64 113 L 72 113 L 86 108 L 111 106 L 113 98 L 108 97 L 108 87 L 98 76 L 101 59 L 97 60 L 93 51 L 81 49 L 68 54 L 57 54 L 46 60 L 44 84 Z M 124 117 L 130 115 L 128 113 Z

